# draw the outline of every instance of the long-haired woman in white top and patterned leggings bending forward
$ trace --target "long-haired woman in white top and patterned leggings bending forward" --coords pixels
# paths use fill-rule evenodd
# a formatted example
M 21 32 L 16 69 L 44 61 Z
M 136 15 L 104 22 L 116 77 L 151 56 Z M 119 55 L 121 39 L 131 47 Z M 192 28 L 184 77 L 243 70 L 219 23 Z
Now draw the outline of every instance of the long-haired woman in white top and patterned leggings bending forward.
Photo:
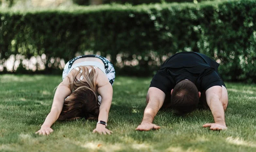
M 51 112 L 36 133 L 49 135 L 56 120 L 84 117 L 98 119 L 93 133 L 111 134 L 106 126 L 115 80 L 113 65 L 98 55 L 78 56 L 65 65 L 62 79 L 56 89 Z

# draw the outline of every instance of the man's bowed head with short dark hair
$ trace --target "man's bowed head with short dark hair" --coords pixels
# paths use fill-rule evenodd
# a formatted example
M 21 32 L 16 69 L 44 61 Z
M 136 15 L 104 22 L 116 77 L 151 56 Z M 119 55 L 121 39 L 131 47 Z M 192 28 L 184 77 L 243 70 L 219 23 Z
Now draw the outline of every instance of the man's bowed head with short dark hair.
M 189 80 L 178 82 L 171 90 L 171 106 L 178 114 L 183 115 L 197 108 L 200 92 L 196 85 Z

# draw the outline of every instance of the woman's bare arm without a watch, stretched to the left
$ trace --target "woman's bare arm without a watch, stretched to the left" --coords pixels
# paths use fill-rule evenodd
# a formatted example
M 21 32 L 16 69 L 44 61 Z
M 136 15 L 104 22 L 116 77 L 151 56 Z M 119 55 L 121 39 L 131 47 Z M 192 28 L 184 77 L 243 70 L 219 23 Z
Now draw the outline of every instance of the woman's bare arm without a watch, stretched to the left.
M 65 98 L 71 94 L 71 91 L 68 87 L 68 78 L 66 77 L 63 82 L 61 82 L 55 92 L 53 104 L 50 113 L 47 115 L 44 123 L 41 126 L 41 129 L 36 133 L 42 135 L 49 135 L 53 132 L 51 129 L 52 124 L 58 119 L 60 112 L 62 110 Z

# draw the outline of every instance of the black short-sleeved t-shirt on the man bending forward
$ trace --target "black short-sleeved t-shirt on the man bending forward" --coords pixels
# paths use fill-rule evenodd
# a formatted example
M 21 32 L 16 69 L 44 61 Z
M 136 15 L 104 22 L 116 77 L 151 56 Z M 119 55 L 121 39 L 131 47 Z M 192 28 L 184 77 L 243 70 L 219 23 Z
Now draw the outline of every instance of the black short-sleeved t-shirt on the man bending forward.
M 181 52 L 169 57 L 152 78 L 150 87 L 170 96 L 171 89 L 184 80 L 193 82 L 200 92 L 212 86 L 225 86 L 218 74 L 219 64 L 204 54 Z

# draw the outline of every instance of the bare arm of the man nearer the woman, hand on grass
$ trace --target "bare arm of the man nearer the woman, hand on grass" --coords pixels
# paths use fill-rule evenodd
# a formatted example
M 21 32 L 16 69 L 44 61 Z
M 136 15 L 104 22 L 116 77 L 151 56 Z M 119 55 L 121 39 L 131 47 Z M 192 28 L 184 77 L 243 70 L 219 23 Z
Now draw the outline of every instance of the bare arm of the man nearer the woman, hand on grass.
M 149 131 L 159 129 L 160 127 L 153 124 L 153 120 L 165 100 L 165 93 L 156 87 L 150 87 L 147 94 L 148 105 L 145 108 L 141 124 L 136 128 L 140 131 Z

